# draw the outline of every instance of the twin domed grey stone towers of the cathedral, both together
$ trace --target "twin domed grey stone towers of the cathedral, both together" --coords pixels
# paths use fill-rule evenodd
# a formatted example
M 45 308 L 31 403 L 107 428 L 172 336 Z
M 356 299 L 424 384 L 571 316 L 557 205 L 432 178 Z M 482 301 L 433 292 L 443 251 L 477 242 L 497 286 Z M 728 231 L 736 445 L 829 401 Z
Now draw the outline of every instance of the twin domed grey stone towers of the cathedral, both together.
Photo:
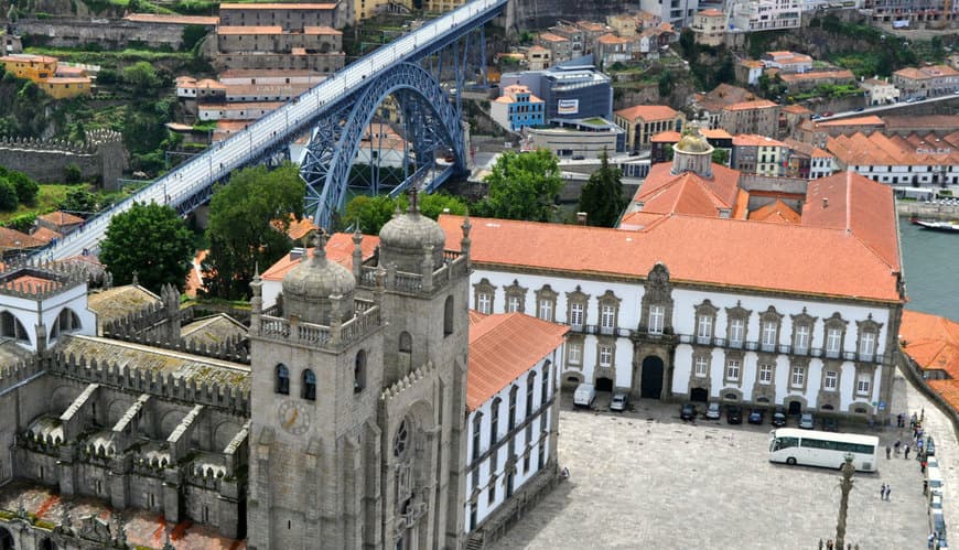
M 321 236 L 283 278 L 282 316 L 254 280 L 251 549 L 459 548 L 468 229 L 444 251 L 413 191 L 378 265 L 327 261 Z

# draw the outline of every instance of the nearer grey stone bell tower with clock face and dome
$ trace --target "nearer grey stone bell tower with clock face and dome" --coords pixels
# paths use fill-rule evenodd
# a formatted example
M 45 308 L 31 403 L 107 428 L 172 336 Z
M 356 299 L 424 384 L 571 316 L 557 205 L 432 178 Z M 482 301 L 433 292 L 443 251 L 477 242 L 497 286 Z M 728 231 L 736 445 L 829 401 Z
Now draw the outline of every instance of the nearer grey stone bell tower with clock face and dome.
M 283 315 L 252 282 L 249 547 L 379 547 L 382 316 L 327 261 L 325 237 L 283 278 Z

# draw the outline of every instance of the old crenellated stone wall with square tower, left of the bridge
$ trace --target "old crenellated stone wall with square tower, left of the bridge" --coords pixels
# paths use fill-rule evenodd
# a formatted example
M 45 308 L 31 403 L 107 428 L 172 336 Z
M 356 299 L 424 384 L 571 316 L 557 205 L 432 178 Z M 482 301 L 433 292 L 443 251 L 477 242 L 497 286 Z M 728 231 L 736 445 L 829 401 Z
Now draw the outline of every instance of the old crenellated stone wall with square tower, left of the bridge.
M 65 140 L 0 137 L 0 165 L 17 170 L 41 183 L 63 183 L 64 171 L 76 164 L 85 181 L 101 182 L 117 190 L 117 180 L 127 169 L 122 136 L 110 130 L 87 132 L 84 143 Z

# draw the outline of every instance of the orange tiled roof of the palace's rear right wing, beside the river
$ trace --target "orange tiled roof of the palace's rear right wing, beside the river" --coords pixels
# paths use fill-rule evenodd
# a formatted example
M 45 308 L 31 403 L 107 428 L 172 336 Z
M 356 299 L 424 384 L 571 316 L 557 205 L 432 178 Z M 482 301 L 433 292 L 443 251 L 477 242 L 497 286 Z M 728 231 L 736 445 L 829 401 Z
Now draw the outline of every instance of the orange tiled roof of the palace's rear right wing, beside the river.
M 806 190 L 802 225 L 849 233 L 888 269 L 899 271 L 896 205 L 887 185 L 855 172 L 812 180 Z

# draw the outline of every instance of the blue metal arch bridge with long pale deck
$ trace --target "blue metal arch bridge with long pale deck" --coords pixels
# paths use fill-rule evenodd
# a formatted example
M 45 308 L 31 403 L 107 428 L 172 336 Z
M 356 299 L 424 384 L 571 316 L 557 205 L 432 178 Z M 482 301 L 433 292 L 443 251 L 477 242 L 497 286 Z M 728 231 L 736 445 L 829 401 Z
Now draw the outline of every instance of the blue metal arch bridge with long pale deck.
M 35 254 L 58 259 L 97 250 L 112 216 L 134 202 L 169 204 L 187 214 L 206 203 L 214 185 L 230 172 L 285 158 L 289 144 L 308 132 L 312 137 L 300 169 L 306 182 L 305 211 L 330 228 L 349 194 L 349 172 L 364 133 L 387 96 L 399 105 L 405 139 L 412 148 L 403 159 L 405 180 L 382 188 L 373 177 L 355 191 L 396 194 L 413 182 L 433 191 L 466 170 L 460 93 L 470 80 L 485 83 L 483 25 L 506 2 L 473 0 L 380 46 Z M 444 90 L 441 82 L 455 86 L 456 93 Z M 438 151 L 448 158 L 452 153 L 452 162 L 438 165 Z

